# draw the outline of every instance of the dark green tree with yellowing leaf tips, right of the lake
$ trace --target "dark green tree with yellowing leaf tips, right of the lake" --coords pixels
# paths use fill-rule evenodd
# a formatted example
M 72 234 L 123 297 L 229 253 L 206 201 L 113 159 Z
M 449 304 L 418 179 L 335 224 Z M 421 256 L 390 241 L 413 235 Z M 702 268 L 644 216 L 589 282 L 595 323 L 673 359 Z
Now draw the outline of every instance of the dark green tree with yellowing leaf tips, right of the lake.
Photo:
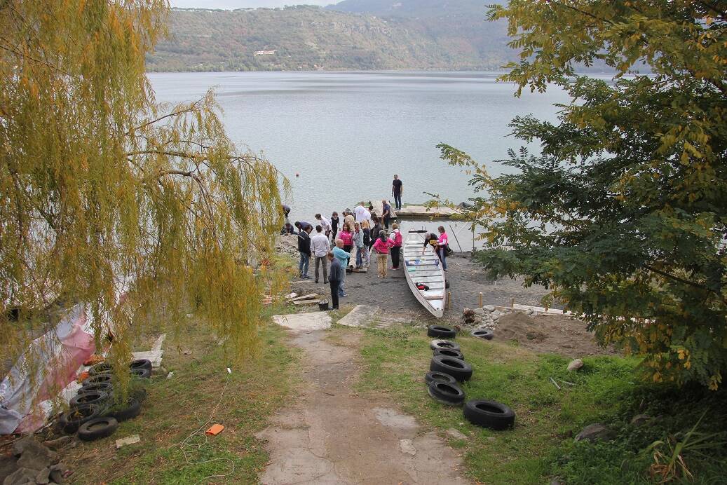
M 655 381 L 718 388 L 727 371 L 727 10 L 696 0 L 511 0 L 521 49 L 503 81 L 571 95 L 557 123 L 515 118 L 513 175 L 466 154 L 487 225 L 481 260 L 551 290 Z M 577 75 L 603 60 L 612 81 Z M 646 68 L 648 74 L 638 73 Z

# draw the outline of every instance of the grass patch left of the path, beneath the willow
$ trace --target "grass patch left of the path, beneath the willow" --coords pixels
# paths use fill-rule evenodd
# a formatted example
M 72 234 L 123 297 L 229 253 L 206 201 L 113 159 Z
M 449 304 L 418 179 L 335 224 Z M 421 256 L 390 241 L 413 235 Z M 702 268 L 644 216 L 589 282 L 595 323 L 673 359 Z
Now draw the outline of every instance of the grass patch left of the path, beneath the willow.
M 75 470 L 71 481 L 194 484 L 214 481 L 206 478 L 223 476 L 234 467 L 233 473 L 217 480 L 256 484 L 268 454 L 254 434 L 265 428 L 297 382 L 297 350 L 284 345 L 284 338 L 284 330 L 265 326 L 260 356 L 232 366 L 206 329 L 190 326 L 177 334 L 162 363 L 174 377 L 150 380 L 142 414 L 122 422 L 110 438 L 81 441 L 75 449 L 66 449 L 63 460 Z M 178 446 L 204 425 L 215 406 L 212 422 L 225 425 L 225 430 L 211 438 L 200 433 L 184 449 Z M 140 435 L 139 444 L 116 450 L 116 439 L 134 434 Z

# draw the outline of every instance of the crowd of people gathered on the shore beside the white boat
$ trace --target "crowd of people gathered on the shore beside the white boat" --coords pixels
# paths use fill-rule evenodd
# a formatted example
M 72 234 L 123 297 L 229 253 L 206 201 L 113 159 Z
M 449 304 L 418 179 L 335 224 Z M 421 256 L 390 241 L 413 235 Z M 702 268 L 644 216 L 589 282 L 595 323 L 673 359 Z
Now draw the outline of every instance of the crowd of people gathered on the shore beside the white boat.
M 403 183 L 398 175 L 394 175 L 391 193 L 396 209 L 401 209 Z M 374 207 L 371 204 L 369 207 L 364 207 L 364 203 L 360 202 L 353 211 L 345 209 L 341 215 L 338 212 L 333 212 L 331 217 L 316 214 L 315 225 L 305 220 L 291 224 L 289 220 L 291 209 L 283 205 L 285 223 L 281 233 L 297 232 L 300 253 L 299 276 L 302 279 L 310 279 L 308 269 L 313 258 L 315 281 L 316 283 L 320 281 L 320 270 L 322 270 L 324 284 L 331 286 L 333 309 L 338 308 L 339 298 L 348 296 L 345 292 L 346 273 L 368 269 L 371 264 L 371 254 L 376 254 L 379 278 L 386 278 L 388 269 L 398 270 L 400 267 L 403 237 L 398 224 L 391 224 L 391 205 L 386 199 L 382 199 L 381 202 L 380 217 L 372 214 Z M 441 259 L 442 268 L 446 270 L 446 252 L 449 249 L 447 235 L 442 226 L 439 227 L 439 232 L 440 236 L 434 234 L 426 236 L 425 247 L 427 244 L 434 247 Z

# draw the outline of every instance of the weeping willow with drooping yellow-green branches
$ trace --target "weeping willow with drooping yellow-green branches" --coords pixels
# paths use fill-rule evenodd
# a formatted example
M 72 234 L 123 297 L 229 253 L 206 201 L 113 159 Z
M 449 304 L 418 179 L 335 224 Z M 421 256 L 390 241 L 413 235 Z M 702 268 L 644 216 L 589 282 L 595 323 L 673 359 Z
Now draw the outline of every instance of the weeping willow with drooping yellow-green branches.
M 160 316 L 183 325 L 191 312 L 236 355 L 252 349 L 264 291 L 256 262 L 271 259 L 281 226 L 281 177 L 236 150 L 211 92 L 156 103 L 145 55 L 168 9 L 0 0 L 5 358 L 52 329 L 39 310 L 80 302 L 97 344 L 113 330 L 119 369 L 132 329 Z

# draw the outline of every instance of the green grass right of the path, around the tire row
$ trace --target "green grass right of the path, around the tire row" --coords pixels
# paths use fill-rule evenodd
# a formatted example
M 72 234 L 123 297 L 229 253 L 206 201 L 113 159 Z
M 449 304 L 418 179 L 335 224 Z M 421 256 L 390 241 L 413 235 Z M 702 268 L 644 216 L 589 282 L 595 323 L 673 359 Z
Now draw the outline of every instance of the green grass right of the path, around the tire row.
M 465 433 L 467 441 L 449 438 L 450 444 L 465 452 L 470 478 L 485 484 L 542 484 L 555 476 L 573 484 L 646 482 L 650 457 L 640 450 L 673 430 L 694 425 L 699 415 L 691 409 L 709 407 L 704 403 L 695 406 L 689 396 L 682 396 L 681 401 L 673 396 L 653 398 L 659 392 L 674 391 L 643 385 L 634 372 L 634 359 L 589 357 L 583 359 L 585 366 L 579 372 L 568 372 L 569 359 L 562 356 L 458 337 L 474 369 L 472 380 L 462 385 L 467 399 L 501 401 L 516 414 L 513 430 L 486 430 L 467 422 L 461 408 L 443 406 L 427 395 L 424 374 L 432 355 L 429 342 L 422 329 L 366 330 L 361 348 L 365 370 L 358 390 L 393 395 L 404 412 L 429 428 L 455 428 Z M 561 390 L 549 377 L 561 385 Z M 706 398 L 712 403 L 710 419 L 721 420 L 723 428 L 725 416 L 717 404 L 720 398 Z M 680 416 L 685 419 L 665 420 L 665 408 L 678 402 L 683 407 Z M 629 425 L 631 417 L 644 409 L 659 416 L 660 424 Z M 574 443 L 573 436 L 593 422 L 606 423 L 616 432 L 616 441 Z M 704 472 L 704 480 L 724 476 L 718 474 L 723 473 L 724 465 L 702 467 L 708 462 L 691 461 L 695 469 Z

